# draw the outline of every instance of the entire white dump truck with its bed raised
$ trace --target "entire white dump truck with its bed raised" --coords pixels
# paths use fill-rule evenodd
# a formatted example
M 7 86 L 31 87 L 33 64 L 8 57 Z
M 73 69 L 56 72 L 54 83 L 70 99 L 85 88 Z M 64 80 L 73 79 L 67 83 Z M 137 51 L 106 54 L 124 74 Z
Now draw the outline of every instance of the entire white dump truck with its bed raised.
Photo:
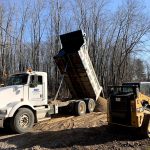
M 92 112 L 102 92 L 91 63 L 85 34 L 74 31 L 60 35 L 62 49 L 54 60 L 66 82 L 72 98 L 48 101 L 47 73 L 32 71 L 13 74 L 0 88 L 0 127 L 17 133 L 29 131 L 34 123 L 59 113 L 70 106 L 76 114 Z M 56 94 L 58 95 L 58 93 Z

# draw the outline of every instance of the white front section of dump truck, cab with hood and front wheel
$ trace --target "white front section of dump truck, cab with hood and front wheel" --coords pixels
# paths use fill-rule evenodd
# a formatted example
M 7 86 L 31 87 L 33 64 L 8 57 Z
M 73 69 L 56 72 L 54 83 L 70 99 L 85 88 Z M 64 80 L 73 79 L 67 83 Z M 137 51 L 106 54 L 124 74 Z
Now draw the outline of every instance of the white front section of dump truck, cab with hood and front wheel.
M 24 133 L 48 110 L 47 73 L 31 71 L 11 75 L 0 88 L 0 127 Z

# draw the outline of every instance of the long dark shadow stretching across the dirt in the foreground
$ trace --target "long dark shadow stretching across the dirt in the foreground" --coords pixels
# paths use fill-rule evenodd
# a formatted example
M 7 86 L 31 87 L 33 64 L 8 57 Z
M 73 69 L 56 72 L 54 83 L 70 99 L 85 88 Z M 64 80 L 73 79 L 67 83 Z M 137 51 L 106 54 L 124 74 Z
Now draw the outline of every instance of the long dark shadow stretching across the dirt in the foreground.
M 7 131 L 6 134 L 8 134 Z M 33 132 L 1 139 L 0 142 L 14 145 L 17 149 L 31 148 L 37 145 L 50 149 L 67 148 L 73 145 L 91 146 L 113 141 L 136 141 L 140 140 L 139 137 L 136 130 L 123 127 L 110 128 L 107 125 L 103 125 L 92 128 Z

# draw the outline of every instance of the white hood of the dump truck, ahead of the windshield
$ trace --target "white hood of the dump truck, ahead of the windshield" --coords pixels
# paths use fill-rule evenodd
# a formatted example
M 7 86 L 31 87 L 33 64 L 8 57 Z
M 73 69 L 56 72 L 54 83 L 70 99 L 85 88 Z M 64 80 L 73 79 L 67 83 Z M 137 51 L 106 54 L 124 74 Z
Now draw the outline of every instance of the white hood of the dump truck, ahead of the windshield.
M 13 85 L 0 88 L 0 108 L 23 98 L 23 85 Z

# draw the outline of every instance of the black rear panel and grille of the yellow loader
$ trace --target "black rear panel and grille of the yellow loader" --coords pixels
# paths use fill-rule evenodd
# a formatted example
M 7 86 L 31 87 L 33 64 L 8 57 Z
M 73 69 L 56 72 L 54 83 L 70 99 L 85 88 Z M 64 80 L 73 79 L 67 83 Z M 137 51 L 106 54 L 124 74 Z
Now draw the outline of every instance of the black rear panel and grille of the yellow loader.
M 136 98 L 136 86 L 115 86 L 115 88 L 117 90 L 111 91 L 109 98 L 110 122 L 131 126 L 131 101 Z M 124 92 L 123 88 L 130 88 L 130 91 Z

